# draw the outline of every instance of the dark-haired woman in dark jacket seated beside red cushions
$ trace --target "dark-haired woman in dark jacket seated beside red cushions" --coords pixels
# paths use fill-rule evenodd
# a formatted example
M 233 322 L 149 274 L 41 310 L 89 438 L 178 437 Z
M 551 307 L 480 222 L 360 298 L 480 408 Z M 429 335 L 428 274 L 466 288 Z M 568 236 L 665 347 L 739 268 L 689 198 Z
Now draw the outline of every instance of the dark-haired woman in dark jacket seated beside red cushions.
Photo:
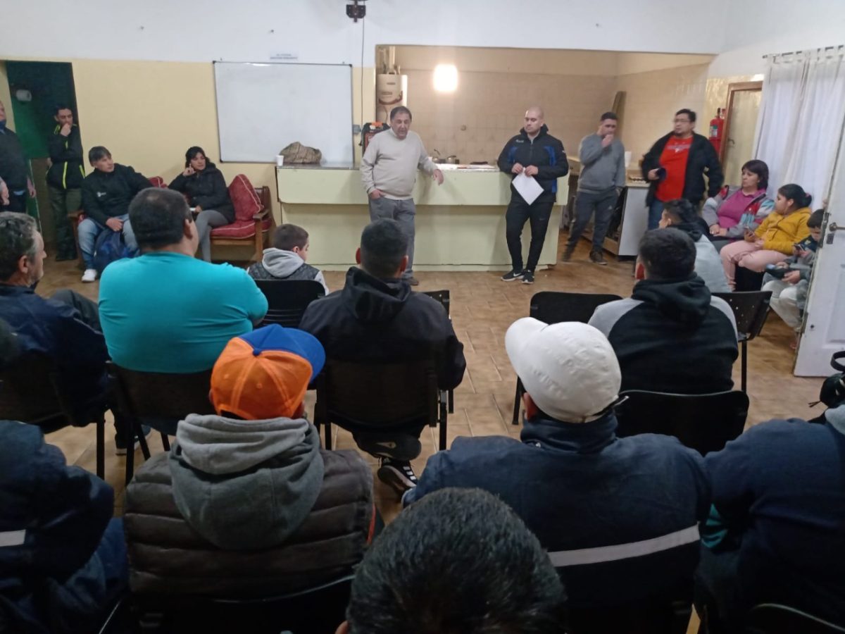
M 235 221 L 235 207 L 223 174 L 205 158 L 205 151 L 194 145 L 185 152 L 185 171 L 168 187 L 185 194 L 188 205 L 195 208 L 199 249 L 203 260 L 210 262 L 211 229 Z

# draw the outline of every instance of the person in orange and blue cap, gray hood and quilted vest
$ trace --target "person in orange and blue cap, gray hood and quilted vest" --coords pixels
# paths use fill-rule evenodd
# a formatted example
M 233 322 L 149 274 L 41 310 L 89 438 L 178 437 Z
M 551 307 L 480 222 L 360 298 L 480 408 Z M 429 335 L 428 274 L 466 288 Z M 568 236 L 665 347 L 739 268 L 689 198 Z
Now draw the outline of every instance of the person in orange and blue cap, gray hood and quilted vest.
M 217 414 L 180 421 L 170 454 L 128 486 L 134 592 L 270 596 L 357 566 L 373 474 L 357 451 L 321 450 L 304 417 L 324 361 L 313 336 L 276 324 L 228 343 L 211 375 Z

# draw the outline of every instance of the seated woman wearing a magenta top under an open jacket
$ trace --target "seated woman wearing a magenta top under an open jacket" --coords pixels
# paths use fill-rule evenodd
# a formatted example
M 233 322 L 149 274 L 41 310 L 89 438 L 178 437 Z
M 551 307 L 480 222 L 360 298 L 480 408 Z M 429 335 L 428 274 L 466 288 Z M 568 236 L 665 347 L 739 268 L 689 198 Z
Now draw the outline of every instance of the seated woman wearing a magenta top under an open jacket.
M 701 216 L 710 227 L 713 246 L 721 251 L 726 244 L 743 238 L 745 227 L 756 229 L 774 208 L 766 196 L 769 167 L 763 161 L 748 161 L 742 167 L 742 186 L 726 185 L 701 208 Z

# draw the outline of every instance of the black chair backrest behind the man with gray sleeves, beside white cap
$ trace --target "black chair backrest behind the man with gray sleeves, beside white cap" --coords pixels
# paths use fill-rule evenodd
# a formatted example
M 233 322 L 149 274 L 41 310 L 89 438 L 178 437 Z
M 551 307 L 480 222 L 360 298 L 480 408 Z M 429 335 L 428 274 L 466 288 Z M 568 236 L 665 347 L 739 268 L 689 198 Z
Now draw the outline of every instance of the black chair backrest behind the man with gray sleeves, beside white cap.
M 740 434 L 748 418 L 748 395 L 734 390 L 715 394 L 666 394 L 624 391 L 616 407 L 619 436 L 674 436 L 702 456 L 719 451 Z

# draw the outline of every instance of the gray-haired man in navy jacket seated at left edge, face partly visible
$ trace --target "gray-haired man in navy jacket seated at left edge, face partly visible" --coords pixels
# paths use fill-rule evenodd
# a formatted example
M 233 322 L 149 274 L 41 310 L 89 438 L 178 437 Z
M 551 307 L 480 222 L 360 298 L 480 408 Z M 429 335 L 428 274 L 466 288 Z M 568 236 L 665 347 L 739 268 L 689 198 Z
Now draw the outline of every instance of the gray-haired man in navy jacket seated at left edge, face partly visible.
M 17 335 L 20 353 L 52 358 L 76 422 L 85 424 L 109 407 L 106 340 L 90 299 L 69 290 L 50 299 L 35 294 L 45 259 L 35 220 L 0 213 L 0 319 Z M 118 454 L 126 453 L 123 434 L 115 435 L 115 443 Z

